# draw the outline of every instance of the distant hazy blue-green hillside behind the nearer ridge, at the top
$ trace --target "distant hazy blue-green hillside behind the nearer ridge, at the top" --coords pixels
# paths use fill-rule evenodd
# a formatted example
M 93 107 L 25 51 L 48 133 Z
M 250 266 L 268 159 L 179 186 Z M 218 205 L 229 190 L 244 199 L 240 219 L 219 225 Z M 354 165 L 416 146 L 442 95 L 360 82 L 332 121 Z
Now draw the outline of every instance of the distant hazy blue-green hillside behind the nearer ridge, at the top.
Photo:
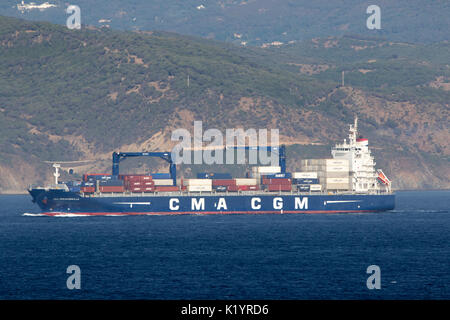
M 57 7 L 21 12 L 16 6 L 19 0 L 2 0 L 0 14 L 65 25 L 67 1 L 49 2 Z M 81 8 L 85 25 L 163 30 L 248 45 L 346 34 L 430 43 L 448 40 L 450 29 L 446 0 L 77 0 L 71 4 Z M 373 4 L 381 8 L 381 30 L 366 28 L 366 9 Z

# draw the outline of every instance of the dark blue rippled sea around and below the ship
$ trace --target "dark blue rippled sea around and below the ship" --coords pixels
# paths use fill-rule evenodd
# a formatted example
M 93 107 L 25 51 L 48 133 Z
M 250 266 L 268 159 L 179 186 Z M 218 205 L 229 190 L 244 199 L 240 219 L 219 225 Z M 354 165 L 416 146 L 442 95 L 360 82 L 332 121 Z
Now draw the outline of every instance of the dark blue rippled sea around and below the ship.
M 450 191 L 396 201 L 364 214 L 46 217 L 2 195 L 0 299 L 449 299 Z

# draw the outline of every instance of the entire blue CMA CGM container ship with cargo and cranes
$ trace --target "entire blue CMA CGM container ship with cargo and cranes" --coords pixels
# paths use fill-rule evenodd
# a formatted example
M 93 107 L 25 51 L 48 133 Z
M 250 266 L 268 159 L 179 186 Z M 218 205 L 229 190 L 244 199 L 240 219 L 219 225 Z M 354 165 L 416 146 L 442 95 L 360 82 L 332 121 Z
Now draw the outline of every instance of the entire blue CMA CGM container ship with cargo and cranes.
M 112 172 L 84 174 L 82 181 L 30 186 L 32 200 L 45 215 L 175 215 L 352 213 L 394 209 L 391 181 L 375 161 L 368 140 L 358 138 L 358 119 L 348 140 L 336 144 L 328 159 L 300 160 L 298 172 L 286 171 L 285 146 L 265 148 L 278 154 L 278 166 L 254 166 L 246 177 L 200 173 L 177 179 L 171 152 L 114 152 Z M 234 147 L 239 148 L 239 147 Z M 129 157 L 159 157 L 169 173 L 120 174 Z

